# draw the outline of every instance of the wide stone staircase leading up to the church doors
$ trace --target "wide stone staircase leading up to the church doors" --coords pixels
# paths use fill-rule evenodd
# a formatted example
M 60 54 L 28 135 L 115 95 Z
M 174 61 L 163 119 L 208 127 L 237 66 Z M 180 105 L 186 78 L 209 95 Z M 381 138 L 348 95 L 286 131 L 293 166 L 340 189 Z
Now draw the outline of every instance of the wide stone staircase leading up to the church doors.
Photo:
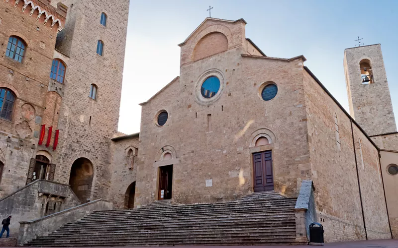
M 94 212 L 27 246 L 304 245 L 296 241 L 295 204 L 274 191 L 224 203 L 162 200 Z

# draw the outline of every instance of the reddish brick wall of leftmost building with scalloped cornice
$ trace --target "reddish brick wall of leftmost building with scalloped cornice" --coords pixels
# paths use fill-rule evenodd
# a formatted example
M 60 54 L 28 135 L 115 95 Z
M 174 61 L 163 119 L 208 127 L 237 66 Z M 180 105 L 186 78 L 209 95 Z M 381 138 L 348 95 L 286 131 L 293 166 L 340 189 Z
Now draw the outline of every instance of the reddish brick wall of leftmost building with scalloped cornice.
M 29 16 L 30 5 L 24 12 L 22 6 L 23 1 L 16 7 L 13 0 L 0 1 L 0 87 L 11 89 L 17 97 L 12 121 L 0 120 L 0 153 L 4 154 L 0 197 L 25 185 L 29 160 L 43 149 L 36 146 L 40 125 L 47 124 L 42 118 L 57 28 L 50 28 L 51 21 L 43 25 L 44 15 L 36 21 L 37 11 Z M 11 35 L 27 43 L 21 63 L 5 57 Z

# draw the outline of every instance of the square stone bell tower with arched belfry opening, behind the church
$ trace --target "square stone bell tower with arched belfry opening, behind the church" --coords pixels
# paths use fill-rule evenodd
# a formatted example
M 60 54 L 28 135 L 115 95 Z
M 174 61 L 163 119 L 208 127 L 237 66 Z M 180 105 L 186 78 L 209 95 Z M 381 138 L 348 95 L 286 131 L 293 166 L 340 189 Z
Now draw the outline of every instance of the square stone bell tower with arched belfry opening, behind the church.
M 355 121 L 370 136 L 396 132 L 381 45 L 346 49 L 344 73 Z

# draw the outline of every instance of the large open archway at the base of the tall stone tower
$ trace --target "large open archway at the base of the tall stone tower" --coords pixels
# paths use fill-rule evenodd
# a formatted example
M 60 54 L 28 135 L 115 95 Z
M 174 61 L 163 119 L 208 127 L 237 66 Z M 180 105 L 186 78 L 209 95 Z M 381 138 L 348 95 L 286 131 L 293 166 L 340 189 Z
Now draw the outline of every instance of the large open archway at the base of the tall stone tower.
M 93 163 L 87 158 L 78 158 L 72 164 L 69 185 L 83 203 L 90 201 L 93 173 Z

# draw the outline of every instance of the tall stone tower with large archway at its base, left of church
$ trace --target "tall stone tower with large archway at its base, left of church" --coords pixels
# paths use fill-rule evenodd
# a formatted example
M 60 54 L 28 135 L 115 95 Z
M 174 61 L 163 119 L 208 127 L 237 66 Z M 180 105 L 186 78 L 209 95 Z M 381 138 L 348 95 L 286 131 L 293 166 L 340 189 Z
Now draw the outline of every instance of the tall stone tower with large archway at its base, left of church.
M 67 65 L 59 117 L 54 180 L 70 184 L 82 202 L 107 197 L 110 138 L 117 132 L 128 0 L 53 0 L 68 18 L 55 57 Z

